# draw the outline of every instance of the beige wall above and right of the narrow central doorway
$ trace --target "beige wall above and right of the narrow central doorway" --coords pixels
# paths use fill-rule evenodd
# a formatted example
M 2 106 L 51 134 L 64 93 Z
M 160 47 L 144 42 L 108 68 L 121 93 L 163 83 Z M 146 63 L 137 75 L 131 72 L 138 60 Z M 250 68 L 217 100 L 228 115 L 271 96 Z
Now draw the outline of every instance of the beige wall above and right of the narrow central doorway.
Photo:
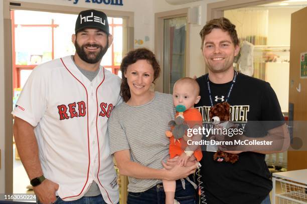
M 207 4 L 214 3 L 214 2 L 220 2 L 214 1 L 214 0 L 203 0 L 188 4 L 182 4 L 182 5 L 170 5 L 165 0 L 155 0 L 154 1 L 154 14 L 170 11 L 170 10 L 177 10 L 177 9 L 183 9 L 183 8 L 189 8 L 189 7 L 196 7 L 201 6 L 201 25 L 195 26 L 195 25 L 189 25 L 190 26 L 190 73 L 189 76 L 193 77 L 201 76 L 205 74 L 205 63 L 202 56 L 202 51 L 200 49 L 201 47 L 201 38 L 199 36 L 199 32 L 203 28 L 203 26 L 206 24 L 207 21 Z M 154 17 L 152 17 L 152 22 L 154 22 Z

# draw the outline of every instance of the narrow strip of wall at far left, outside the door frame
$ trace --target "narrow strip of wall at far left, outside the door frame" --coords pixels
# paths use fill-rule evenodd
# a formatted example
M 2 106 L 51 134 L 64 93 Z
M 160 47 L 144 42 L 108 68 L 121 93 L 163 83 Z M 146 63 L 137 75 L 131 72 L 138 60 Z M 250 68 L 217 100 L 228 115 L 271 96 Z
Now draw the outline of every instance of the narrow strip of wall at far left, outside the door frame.
M 3 4 L 0 4 L 0 14 L 3 14 Z M 3 39 L 3 15 L 0 15 L 0 45 L 4 44 Z M 4 89 L 4 47 L 0 46 L 0 149 L 1 149 L 1 157 L 0 157 L 0 193 L 4 193 L 5 191 L 5 89 Z

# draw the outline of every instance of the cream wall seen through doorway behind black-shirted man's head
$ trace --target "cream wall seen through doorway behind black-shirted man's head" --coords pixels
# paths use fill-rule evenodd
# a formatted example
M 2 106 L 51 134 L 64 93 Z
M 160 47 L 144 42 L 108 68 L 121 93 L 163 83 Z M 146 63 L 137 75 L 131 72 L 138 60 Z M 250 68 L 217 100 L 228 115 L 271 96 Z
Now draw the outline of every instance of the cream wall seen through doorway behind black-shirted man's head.
M 224 16 L 236 25 L 239 37 L 267 35 L 267 45 L 280 46 L 290 45 L 291 14 L 299 9 L 301 8 L 242 8 L 225 11 Z

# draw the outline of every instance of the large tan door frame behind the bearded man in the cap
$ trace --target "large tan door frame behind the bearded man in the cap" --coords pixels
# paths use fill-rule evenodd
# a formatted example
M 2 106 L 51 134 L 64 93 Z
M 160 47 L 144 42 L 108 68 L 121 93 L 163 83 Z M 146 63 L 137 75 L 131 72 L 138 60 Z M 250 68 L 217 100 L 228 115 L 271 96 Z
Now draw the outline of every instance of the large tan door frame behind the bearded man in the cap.
M 39 3 L 26 3 L 14 1 L 10 4 L 10 0 L 3 2 L 3 18 L 4 18 L 4 65 L 5 65 L 5 193 L 13 193 L 13 116 L 11 114 L 13 107 L 13 61 L 12 61 L 12 25 L 11 10 L 29 10 L 63 14 L 78 14 L 83 10 L 90 8 L 48 5 Z M 20 6 L 19 6 L 20 5 Z M 122 17 L 125 25 L 123 25 L 123 38 L 126 44 L 123 45 L 123 53 L 133 49 L 134 39 L 134 12 L 102 10 L 108 17 Z

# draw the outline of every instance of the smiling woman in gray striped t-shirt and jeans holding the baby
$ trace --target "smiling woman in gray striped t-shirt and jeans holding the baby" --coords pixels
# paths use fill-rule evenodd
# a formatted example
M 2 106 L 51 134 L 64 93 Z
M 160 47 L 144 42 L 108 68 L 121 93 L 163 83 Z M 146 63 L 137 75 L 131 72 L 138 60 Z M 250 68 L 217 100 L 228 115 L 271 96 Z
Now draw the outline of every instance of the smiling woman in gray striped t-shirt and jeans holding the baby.
M 161 161 L 169 157 L 169 139 L 165 131 L 174 119 L 172 95 L 150 90 L 159 77 L 160 66 L 155 55 L 147 49 L 130 51 L 122 60 L 121 96 L 108 122 L 110 150 L 120 174 L 127 175 L 127 204 L 164 203 L 161 179 L 177 180 L 194 173 L 196 162 L 190 166 L 175 165 L 163 169 Z M 195 203 L 192 184 L 177 181 L 175 199 L 181 204 Z

